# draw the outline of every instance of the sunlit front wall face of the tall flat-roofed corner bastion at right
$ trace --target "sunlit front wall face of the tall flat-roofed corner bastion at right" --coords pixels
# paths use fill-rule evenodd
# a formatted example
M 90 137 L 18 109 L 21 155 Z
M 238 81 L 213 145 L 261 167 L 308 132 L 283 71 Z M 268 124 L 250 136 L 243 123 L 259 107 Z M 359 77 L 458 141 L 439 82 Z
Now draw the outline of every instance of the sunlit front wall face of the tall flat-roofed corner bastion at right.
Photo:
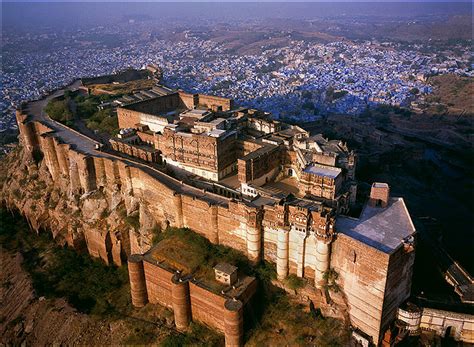
M 381 335 L 389 255 L 339 233 L 333 242 L 331 267 L 344 288 L 351 324 L 372 336 Z

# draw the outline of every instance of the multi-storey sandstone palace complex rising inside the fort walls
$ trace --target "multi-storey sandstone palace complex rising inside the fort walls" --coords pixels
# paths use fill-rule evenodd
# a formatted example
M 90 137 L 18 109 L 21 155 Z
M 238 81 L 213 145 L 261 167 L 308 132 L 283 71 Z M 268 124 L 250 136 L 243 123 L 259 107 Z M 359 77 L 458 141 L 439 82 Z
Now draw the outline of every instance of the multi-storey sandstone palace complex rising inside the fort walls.
M 121 128 L 148 127 L 170 169 L 224 186 L 237 180 L 243 196 L 296 193 L 331 201 L 340 211 L 355 201 L 356 157 L 344 143 L 234 108 L 230 99 L 179 91 L 121 107 L 118 118 Z M 295 184 L 279 183 L 287 178 Z

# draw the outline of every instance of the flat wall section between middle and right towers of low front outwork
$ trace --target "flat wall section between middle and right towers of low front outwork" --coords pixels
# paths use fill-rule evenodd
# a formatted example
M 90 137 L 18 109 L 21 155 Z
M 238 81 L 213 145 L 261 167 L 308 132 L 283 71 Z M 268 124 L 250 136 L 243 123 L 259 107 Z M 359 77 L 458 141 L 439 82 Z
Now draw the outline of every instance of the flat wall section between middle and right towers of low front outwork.
M 193 319 L 224 332 L 224 303 L 226 299 L 190 282 L 191 312 Z

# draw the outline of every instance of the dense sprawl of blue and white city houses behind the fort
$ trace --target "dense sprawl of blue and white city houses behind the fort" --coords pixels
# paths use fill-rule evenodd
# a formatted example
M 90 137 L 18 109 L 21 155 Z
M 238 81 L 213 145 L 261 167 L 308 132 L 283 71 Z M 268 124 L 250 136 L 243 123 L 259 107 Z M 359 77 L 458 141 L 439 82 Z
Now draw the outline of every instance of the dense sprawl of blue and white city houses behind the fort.
M 90 30 L 112 35 L 123 28 Z M 151 32 L 143 23 L 134 30 Z M 149 63 L 163 68 L 163 83 L 170 87 L 212 92 L 271 112 L 276 118 L 303 122 L 327 113 L 356 115 L 379 103 L 409 106 L 418 95 L 431 92 L 428 75 L 472 76 L 469 48 L 462 45 L 422 53 L 423 44 L 400 48 L 377 40 L 313 43 L 292 40 L 289 33 L 289 45 L 274 48 L 269 44 L 259 47 L 261 54 L 235 54 L 224 43 L 200 38 L 190 30 L 176 41 L 146 35 L 139 41 L 127 38 L 116 44 L 87 41 L 90 33 L 81 30 L 59 35 L 5 35 L 1 129 L 14 126 L 15 105 L 38 99 L 78 76 L 98 76 Z M 10 48 L 22 41 L 41 45 L 48 40 L 59 44 L 26 53 Z

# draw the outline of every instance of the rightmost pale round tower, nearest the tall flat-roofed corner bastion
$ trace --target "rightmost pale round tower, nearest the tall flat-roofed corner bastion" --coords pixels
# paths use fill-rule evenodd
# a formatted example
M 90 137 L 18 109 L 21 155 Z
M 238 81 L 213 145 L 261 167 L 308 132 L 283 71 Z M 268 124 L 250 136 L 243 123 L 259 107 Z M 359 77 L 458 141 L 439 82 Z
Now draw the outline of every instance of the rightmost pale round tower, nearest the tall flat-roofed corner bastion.
M 314 285 L 316 288 L 322 288 L 326 284 L 324 274 L 330 267 L 331 243 L 334 239 L 334 219 L 329 219 L 325 225 L 319 225 L 314 233 L 316 236 Z

